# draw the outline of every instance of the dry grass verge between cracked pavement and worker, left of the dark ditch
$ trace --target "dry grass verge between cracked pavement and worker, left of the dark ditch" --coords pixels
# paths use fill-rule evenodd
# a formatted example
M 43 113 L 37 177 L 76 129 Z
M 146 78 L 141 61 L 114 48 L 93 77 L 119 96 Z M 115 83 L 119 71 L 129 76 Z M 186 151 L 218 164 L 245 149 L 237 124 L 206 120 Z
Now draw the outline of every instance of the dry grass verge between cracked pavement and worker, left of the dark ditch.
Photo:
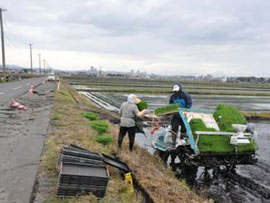
M 73 96 L 71 96 L 71 93 Z M 83 98 L 74 92 L 73 89 L 61 85 L 60 91 L 55 92 L 55 102 L 51 113 L 52 130 L 49 131 L 49 136 L 45 142 L 44 154 L 41 159 L 41 174 L 40 176 L 49 177 L 48 192 L 45 195 L 47 203 L 83 203 L 83 202 L 98 202 L 94 196 L 83 196 L 79 198 L 60 199 L 55 196 L 57 185 L 57 172 L 55 165 L 61 147 L 67 143 L 78 144 L 86 149 L 95 152 L 112 154 L 116 151 L 115 144 L 107 143 L 108 140 L 103 137 L 99 138 L 101 143 L 97 142 L 99 133 L 89 126 L 89 119 L 84 118 L 82 113 L 85 111 L 100 111 L 99 117 L 108 116 L 107 112 L 97 109 L 95 106 L 87 103 Z M 75 98 L 75 99 L 74 99 Z M 117 115 L 112 115 L 116 118 Z M 113 124 L 106 121 L 108 132 L 102 136 L 111 137 L 114 139 Z M 114 139 L 115 140 L 115 139 Z M 104 142 L 106 144 L 104 145 Z M 120 175 L 114 169 L 109 168 L 110 181 L 108 184 L 106 196 L 100 202 L 141 202 L 140 194 L 132 195 L 128 193 L 129 186 L 124 182 Z

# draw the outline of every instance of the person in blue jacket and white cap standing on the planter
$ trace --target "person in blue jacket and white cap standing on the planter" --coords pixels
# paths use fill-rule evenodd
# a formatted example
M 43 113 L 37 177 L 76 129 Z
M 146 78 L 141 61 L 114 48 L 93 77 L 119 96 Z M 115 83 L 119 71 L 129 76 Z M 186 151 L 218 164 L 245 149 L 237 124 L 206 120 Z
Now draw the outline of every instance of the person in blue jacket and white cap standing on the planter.
M 181 108 L 191 108 L 192 106 L 191 96 L 182 90 L 182 85 L 180 83 L 176 83 L 173 85 L 173 94 L 170 97 L 170 104 L 179 104 L 179 107 Z M 172 141 L 173 144 L 175 145 L 179 125 L 181 125 L 181 135 L 186 132 L 185 125 L 179 113 L 175 113 L 173 115 L 171 125 L 172 125 Z

